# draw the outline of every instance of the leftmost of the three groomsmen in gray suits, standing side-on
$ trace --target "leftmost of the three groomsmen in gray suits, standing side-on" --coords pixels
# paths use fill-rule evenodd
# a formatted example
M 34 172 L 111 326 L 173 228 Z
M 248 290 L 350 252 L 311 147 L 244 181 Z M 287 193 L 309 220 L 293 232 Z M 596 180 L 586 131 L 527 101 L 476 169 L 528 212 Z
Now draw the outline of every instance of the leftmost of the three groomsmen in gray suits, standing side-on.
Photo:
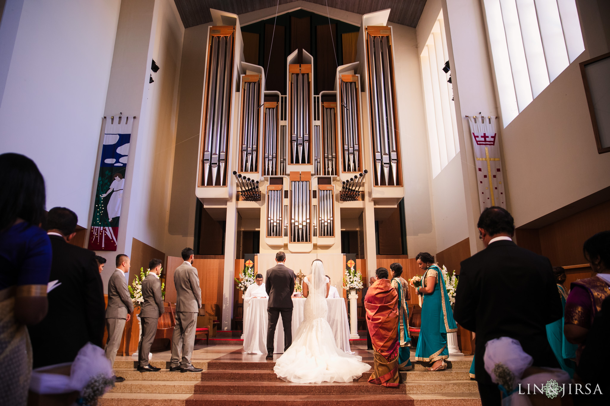
M 121 345 L 125 323 L 131 319 L 134 304 L 127 289 L 125 274 L 129 272 L 129 257 L 125 254 L 117 255 L 117 269 L 110 275 L 108 281 L 108 306 L 106 307 L 106 329 L 108 341 L 106 341 L 106 358 L 110 365 L 114 365 L 117 357 L 118 347 Z M 125 378 L 117 376 L 117 382 L 123 382 Z

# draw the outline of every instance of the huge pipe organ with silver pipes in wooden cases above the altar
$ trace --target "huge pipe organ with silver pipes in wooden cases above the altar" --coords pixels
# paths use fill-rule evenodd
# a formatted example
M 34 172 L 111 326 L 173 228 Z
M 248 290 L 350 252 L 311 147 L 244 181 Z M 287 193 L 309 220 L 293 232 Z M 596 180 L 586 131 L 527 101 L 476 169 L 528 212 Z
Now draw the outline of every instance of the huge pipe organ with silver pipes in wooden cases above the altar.
M 334 89 L 316 90 L 314 58 L 296 50 L 283 92 L 243 61 L 238 16 L 210 12 L 196 196 L 218 219 L 226 212 L 227 239 L 254 229 L 260 252 L 340 253 L 343 230 L 375 233 L 363 227 L 377 208 L 404 197 L 389 11 L 363 16 L 356 61 L 326 80 Z M 242 219 L 234 231 L 231 216 Z

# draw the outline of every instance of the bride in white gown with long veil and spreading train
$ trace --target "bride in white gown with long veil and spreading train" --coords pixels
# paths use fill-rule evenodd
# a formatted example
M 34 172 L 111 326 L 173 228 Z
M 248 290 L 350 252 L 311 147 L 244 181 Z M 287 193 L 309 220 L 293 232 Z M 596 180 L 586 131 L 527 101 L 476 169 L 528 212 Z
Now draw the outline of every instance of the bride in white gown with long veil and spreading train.
M 273 371 L 279 378 L 296 383 L 351 382 L 361 377 L 371 367 L 362 362 L 362 357 L 337 348 L 331 326 L 326 321 L 327 288 L 322 261 L 312 262 L 311 273 L 304 282 L 307 299 L 303 323 Z

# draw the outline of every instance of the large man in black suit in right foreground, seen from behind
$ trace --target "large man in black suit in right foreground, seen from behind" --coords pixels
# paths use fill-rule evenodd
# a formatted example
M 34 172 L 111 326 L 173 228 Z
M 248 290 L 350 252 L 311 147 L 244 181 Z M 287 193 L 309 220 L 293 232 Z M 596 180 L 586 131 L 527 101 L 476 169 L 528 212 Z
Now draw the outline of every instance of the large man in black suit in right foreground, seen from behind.
M 477 227 L 486 248 L 461 263 L 453 317 L 476 332 L 481 403 L 499 406 L 500 391 L 485 371 L 487 341 L 515 338 L 534 366 L 559 368 L 545 326 L 562 317 L 562 308 L 550 261 L 512 242 L 515 226 L 508 211 L 486 208 Z

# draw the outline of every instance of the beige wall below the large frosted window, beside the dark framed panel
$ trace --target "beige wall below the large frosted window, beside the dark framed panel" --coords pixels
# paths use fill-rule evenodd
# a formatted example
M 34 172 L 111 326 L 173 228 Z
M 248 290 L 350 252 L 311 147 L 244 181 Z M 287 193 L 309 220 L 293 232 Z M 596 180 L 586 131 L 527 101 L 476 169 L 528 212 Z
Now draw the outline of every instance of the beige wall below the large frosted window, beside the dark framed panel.
M 610 186 L 610 154 L 598 154 L 578 63 L 608 52 L 597 2 L 578 1 L 585 51 L 502 131 L 515 225 Z

